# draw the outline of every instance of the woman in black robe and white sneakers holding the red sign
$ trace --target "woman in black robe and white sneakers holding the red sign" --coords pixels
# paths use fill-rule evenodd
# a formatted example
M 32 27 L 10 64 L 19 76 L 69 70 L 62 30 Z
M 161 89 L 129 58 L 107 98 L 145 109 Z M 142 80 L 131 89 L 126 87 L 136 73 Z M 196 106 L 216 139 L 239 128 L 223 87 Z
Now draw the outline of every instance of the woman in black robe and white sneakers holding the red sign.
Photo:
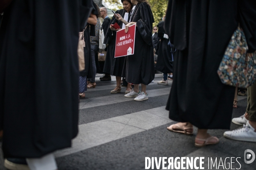
M 154 51 L 152 41 L 152 23 L 154 17 L 147 0 L 131 0 L 136 5 L 131 22 L 125 21 L 120 14 L 116 19 L 125 24 L 125 32 L 129 26 L 136 24 L 134 54 L 126 57 L 126 81 L 134 84 L 134 89 L 125 97 L 135 97 L 135 101 L 148 99 L 146 87 L 154 79 Z M 139 91 L 141 84 L 141 91 Z

